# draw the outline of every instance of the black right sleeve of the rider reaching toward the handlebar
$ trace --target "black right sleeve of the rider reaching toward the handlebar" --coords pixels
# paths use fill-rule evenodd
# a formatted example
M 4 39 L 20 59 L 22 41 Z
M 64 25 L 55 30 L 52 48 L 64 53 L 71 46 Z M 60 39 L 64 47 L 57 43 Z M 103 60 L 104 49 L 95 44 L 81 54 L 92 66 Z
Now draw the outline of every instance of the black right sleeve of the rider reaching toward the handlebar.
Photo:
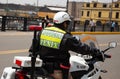
M 73 37 L 70 34 L 66 34 L 65 41 L 65 48 L 67 50 L 81 54 L 90 54 L 91 52 L 91 48 L 88 45 L 82 43 L 80 40 L 76 39 L 76 37 Z

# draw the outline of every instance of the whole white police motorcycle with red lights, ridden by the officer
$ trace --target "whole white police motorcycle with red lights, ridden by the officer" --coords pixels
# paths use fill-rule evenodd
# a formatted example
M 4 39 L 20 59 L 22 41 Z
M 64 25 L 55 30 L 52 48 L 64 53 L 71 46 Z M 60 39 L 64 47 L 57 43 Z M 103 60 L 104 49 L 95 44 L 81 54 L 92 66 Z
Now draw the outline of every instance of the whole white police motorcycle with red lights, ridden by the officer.
M 33 49 L 35 50 L 36 34 L 37 31 L 42 28 L 31 26 L 30 29 L 34 30 Z M 96 38 L 93 36 L 82 35 L 81 41 L 91 47 L 99 47 Z M 111 56 L 105 54 L 105 52 L 116 46 L 116 42 L 109 42 L 108 48 L 100 51 L 101 57 L 76 53 L 71 55 L 69 79 L 102 79 L 101 72 L 105 73 L 107 71 L 101 69 L 99 62 L 104 62 L 106 58 L 111 58 Z M 37 57 L 35 53 L 36 52 L 33 51 L 31 57 L 15 56 L 14 64 L 16 64 L 17 67 L 5 67 L 1 79 L 62 79 L 62 72 L 59 70 L 55 71 L 53 75 L 50 75 L 46 69 L 43 68 L 45 63 Z

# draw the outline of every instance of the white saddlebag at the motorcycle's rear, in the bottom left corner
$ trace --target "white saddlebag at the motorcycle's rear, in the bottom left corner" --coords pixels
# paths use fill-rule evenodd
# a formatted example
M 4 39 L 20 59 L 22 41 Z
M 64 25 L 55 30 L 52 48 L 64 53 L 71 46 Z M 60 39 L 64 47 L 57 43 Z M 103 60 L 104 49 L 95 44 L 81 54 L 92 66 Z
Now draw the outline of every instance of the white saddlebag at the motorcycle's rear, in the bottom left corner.
M 15 71 L 12 67 L 5 67 L 1 79 L 15 79 Z

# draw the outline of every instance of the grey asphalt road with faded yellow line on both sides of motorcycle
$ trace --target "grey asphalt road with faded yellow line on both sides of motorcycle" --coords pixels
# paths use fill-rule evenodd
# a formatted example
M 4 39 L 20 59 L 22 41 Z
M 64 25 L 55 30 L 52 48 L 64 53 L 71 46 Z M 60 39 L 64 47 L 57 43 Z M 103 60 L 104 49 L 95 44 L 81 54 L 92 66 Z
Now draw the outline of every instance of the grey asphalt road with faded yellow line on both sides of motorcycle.
M 4 67 L 15 66 L 14 56 L 28 55 L 32 43 L 32 32 L 0 32 L 0 76 Z M 107 48 L 110 41 L 116 41 L 118 46 L 108 51 L 112 55 L 107 59 L 102 68 L 108 73 L 102 74 L 103 79 L 120 79 L 120 35 L 94 35 L 97 37 L 100 48 Z

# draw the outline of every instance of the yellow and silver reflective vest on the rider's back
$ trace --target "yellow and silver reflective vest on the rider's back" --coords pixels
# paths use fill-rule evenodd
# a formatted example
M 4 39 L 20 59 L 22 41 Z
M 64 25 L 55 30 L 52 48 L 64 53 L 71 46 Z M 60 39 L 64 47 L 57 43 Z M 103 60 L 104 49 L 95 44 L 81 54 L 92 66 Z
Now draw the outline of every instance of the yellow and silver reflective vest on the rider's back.
M 65 33 L 65 31 L 56 27 L 45 28 L 40 36 L 40 45 L 59 49 Z

